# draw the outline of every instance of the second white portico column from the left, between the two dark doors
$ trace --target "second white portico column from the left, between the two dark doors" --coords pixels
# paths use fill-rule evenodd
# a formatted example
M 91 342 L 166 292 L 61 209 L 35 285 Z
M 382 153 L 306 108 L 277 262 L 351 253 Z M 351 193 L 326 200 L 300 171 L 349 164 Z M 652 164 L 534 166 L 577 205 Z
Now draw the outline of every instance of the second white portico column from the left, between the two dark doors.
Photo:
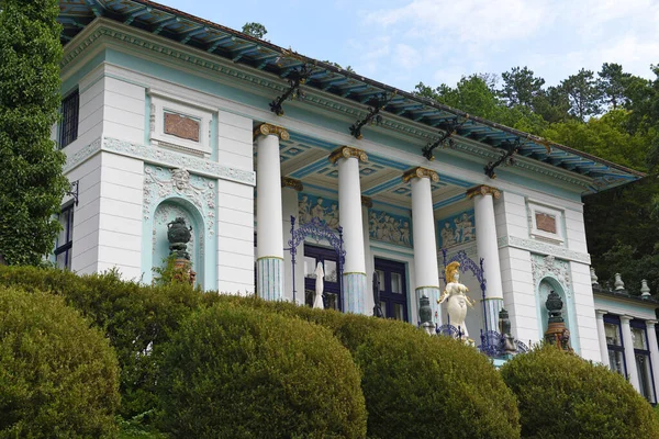
M 360 149 L 343 146 L 330 155 L 338 165 L 338 216 L 343 227 L 346 260 L 343 275 L 343 311 L 364 314 L 366 294 L 366 260 L 361 221 L 359 160 L 368 157 Z

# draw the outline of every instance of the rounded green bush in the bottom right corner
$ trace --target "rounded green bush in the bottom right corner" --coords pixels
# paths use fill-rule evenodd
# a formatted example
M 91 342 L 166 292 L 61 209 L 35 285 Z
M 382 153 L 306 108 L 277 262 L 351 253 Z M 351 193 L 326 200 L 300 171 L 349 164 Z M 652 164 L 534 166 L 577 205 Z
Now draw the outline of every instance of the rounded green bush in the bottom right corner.
M 604 365 L 545 346 L 501 374 L 517 395 L 524 438 L 659 438 L 652 407 Z

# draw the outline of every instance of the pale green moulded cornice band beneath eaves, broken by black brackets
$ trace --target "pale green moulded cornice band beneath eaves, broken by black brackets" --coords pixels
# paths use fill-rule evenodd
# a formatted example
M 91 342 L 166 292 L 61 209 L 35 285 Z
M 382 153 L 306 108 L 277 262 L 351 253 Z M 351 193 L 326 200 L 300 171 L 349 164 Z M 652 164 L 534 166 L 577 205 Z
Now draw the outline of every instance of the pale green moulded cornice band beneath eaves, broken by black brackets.
M 66 46 L 65 56 L 60 63 L 63 69 L 66 66 L 68 66 L 71 61 L 74 61 L 78 56 L 80 56 L 87 47 L 90 47 L 97 40 L 104 36 L 111 40 L 127 43 L 129 45 L 132 45 L 134 47 L 149 50 L 158 56 L 170 57 L 178 63 L 188 64 L 191 68 L 197 70 L 208 69 L 208 72 L 210 75 L 213 75 L 214 77 L 217 77 L 217 74 L 221 74 L 225 77 L 224 79 L 238 79 L 241 81 L 244 81 L 244 86 L 246 87 L 253 88 L 257 86 L 263 89 L 267 89 L 269 90 L 268 94 L 270 92 L 281 93 L 284 90 L 287 90 L 286 85 L 280 83 L 281 79 L 279 78 L 268 78 L 267 76 L 265 76 L 266 74 L 264 72 L 239 70 L 235 68 L 234 65 L 211 60 L 208 57 L 198 55 L 196 50 L 190 49 L 189 47 L 186 52 L 182 52 L 160 42 L 156 42 L 156 40 L 150 40 L 153 38 L 152 35 L 131 35 L 123 30 L 115 29 L 115 24 L 113 22 L 107 21 L 104 19 L 97 20 L 99 20 L 99 25 L 97 29 L 88 32 L 83 38 L 76 41 L 76 46 L 71 44 L 68 44 Z M 131 31 L 135 32 L 135 30 Z M 349 119 L 353 119 L 354 116 L 364 116 L 365 114 L 364 111 L 356 109 L 348 101 L 344 102 L 340 99 L 328 98 L 325 93 L 314 93 L 313 90 L 309 90 L 304 97 L 300 98 L 300 101 L 305 101 L 308 103 L 315 104 L 316 106 L 336 112 L 344 116 L 348 116 Z M 395 116 L 388 116 L 383 121 L 381 126 L 401 135 L 415 136 L 422 142 L 432 140 L 436 137 L 435 131 L 431 127 L 425 128 L 423 126 L 420 126 L 418 124 L 407 123 L 406 121 L 403 121 Z M 498 154 L 498 151 L 493 148 L 485 148 L 476 142 L 470 142 L 460 137 L 456 138 L 455 150 L 465 151 L 472 156 L 485 158 L 488 160 L 495 159 L 500 156 L 500 154 Z M 535 164 L 530 159 L 520 158 L 513 166 L 515 168 L 527 170 L 532 173 L 546 176 L 552 179 L 567 182 L 569 184 L 574 184 L 584 188 L 587 190 L 589 190 L 589 188 L 592 184 L 594 184 L 593 179 L 590 179 L 588 177 L 577 177 L 571 175 L 569 171 L 555 170 L 547 165 Z

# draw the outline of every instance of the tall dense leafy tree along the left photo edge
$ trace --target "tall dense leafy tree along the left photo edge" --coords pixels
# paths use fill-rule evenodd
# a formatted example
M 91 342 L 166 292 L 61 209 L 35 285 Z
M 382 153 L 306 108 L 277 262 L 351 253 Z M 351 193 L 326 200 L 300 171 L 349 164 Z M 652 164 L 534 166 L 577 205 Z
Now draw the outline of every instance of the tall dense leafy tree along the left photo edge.
M 0 255 L 38 264 L 68 185 L 51 140 L 59 108 L 59 12 L 55 0 L 4 0 L 0 10 Z

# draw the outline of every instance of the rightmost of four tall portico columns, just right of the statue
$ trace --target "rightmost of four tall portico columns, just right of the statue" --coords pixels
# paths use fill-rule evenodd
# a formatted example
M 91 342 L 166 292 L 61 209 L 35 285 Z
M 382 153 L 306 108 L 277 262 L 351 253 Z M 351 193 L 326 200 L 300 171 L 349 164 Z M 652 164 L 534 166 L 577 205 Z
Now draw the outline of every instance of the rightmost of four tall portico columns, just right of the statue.
M 501 268 L 499 263 L 499 246 L 496 244 L 496 224 L 494 217 L 494 201 L 501 192 L 488 185 L 470 189 L 467 196 L 473 199 L 473 215 L 476 223 L 476 248 L 478 256 L 483 258 L 485 274 L 485 324 L 487 329 L 496 330 L 499 312 L 503 307 L 503 286 L 501 284 Z M 485 329 L 485 328 L 483 328 Z

